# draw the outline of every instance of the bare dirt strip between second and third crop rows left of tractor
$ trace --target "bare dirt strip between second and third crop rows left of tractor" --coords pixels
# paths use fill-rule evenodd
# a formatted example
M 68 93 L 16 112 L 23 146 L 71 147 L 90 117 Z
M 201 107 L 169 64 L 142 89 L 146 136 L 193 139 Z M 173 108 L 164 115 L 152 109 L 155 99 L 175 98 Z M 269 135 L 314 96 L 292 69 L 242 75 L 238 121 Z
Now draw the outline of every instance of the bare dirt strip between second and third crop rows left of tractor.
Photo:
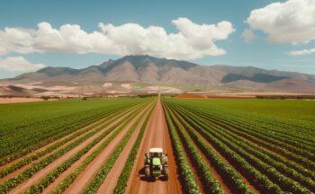
M 82 193 L 85 188 L 88 186 L 89 182 L 91 182 L 94 179 L 94 176 L 99 172 L 103 166 L 103 163 L 106 162 L 108 157 L 111 156 L 112 152 L 114 151 L 115 147 L 119 145 L 121 142 L 121 139 L 127 134 L 131 126 L 136 122 L 136 120 L 139 118 L 139 116 L 144 112 L 148 110 L 145 108 L 144 110 L 141 110 L 139 114 L 134 117 L 130 123 L 121 130 L 121 132 L 112 139 L 112 142 L 107 145 L 101 154 L 97 155 L 94 158 L 94 161 L 92 163 L 89 163 L 87 167 L 85 168 L 84 172 L 81 172 L 80 175 L 76 178 L 76 181 L 74 181 L 69 188 L 65 191 L 65 193 Z

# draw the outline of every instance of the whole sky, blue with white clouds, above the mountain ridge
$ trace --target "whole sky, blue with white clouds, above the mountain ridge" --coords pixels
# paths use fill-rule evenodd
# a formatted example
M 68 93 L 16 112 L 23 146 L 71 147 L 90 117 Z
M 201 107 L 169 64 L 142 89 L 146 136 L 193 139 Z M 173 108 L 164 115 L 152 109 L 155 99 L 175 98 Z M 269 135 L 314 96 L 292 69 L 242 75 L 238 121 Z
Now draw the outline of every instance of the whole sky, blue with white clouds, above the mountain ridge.
M 0 78 L 143 54 L 315 74 L 315 0 L 0 3 Z

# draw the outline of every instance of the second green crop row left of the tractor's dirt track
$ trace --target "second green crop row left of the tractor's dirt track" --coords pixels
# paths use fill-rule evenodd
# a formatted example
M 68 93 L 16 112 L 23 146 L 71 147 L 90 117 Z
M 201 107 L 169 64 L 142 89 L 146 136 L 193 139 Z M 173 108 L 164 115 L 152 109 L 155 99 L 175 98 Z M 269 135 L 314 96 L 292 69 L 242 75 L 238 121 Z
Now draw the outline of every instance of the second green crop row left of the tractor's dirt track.
M 95 175 L 93 181 L 91 181 L 89 183 L 89 185 L 85 188 L 85 191 L 84 191 L 85 194 L 96 193 L 97 190 L 101 187 L 101 185 L 103 184 L 103 181 L 107 177 L 107 174 L 109 172 L 111 172 L 112 166 L 114 165 L 114 163 L 116 162 L 117 158 L 121 154 L 121 152 L 122 152 L 123 148 L 125 147 L 125 145 L 127 145 L 130 137 L 132 136 L 133 132 L 138 127 L 141 119 L 145 116 L 146 113 L 148 113 L 148 110 L 144 111 L 141 115 L 139 115 L 139 118 L 130 127 L 130 129 L 127 132 L 127 134 L 121 139 L 120 144 L 115 147 L 115 150 L 113 151 L 111 156 L 107 159 L 107 161 L 105 163 L 103 163 L 103 166 L 102 166 L 100 172 L 98 172 Z

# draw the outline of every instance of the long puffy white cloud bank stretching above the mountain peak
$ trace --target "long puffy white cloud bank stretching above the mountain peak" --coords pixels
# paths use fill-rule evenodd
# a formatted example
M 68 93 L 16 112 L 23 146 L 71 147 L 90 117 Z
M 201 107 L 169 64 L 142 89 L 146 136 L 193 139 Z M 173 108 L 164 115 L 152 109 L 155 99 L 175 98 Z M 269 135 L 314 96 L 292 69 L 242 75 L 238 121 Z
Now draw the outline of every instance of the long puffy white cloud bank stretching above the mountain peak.
M 86 32 L 76 24 L 64 24 L 54 29 L 48 22 L 40 22 L 38 29 L 5 28 L 0 31 L 0 55 L 58 51 L 192 59 L 225 54 L 226 51 L 218 48 L 215 42 L 227 40 L 235 31 L 226 21 L 197 24 L 187 18 L 178 18 L 172 23 L 178 30 L 176 33 L 137 23 L 115 26 L 101 22 L 100 31 L 92 32 Z

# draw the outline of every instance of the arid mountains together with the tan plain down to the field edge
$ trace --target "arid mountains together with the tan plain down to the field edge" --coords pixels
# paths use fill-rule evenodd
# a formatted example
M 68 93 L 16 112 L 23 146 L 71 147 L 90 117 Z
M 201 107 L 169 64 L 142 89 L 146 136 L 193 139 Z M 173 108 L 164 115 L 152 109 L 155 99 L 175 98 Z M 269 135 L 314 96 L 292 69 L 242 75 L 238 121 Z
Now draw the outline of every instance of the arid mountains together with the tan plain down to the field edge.
M 45 67 L 0 80 L 0 96 L 95 96 L 138 93 L 315 93 L 315 75 L 252 66 L 200 66 L 126 56 L 82 69 Z

